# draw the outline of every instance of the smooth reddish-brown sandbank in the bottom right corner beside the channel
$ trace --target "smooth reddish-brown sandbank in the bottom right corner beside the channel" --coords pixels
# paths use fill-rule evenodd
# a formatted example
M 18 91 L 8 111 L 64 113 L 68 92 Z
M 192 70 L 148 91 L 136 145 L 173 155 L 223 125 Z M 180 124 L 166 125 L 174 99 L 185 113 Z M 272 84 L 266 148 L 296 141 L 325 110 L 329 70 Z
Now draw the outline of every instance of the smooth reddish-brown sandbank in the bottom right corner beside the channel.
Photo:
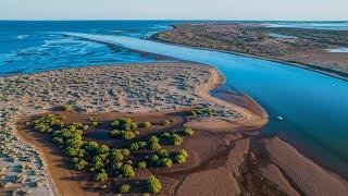
M 277 137 L 266 142 L 271 161 L 277 164 L 306 195 L 347 195 L 347 182 L 330 173 Z M 276 180 L 276 179 L 275 179 Z

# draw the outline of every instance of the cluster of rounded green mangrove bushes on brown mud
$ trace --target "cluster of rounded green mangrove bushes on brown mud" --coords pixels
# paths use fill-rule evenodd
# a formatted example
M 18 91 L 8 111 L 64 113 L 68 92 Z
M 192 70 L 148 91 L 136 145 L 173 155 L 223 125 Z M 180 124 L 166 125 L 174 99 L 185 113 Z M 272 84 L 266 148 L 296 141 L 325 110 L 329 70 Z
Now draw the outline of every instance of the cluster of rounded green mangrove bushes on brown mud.
M 111 148 L 97 142 L 84 139 L 90 127 L 102 123 L 97 119 L 90 119 L 88 122 L 89 125 L 80 122 L 66 124 L 63 118 L 48 114 L 27 123 L 27 125 L 36 132 L 50 135 L 55 146 L 69 157 L 76 170 L 91 173 L 94 180 L 102 182 L 103 185 L 117 177 L 136 177 L 136 172 L 140 169 L 171 168 L 185 163 L 188 160 L 188 152 L 185 149 L 167 150 L 163 146 L 179 146 L 184 142 L 184 137 L 190 137 L 195 134 L 191 128 L 184 128 L 152 133 L 141 137 L 146 139 L 136 139 L 139 135 L 138 124 L 129 118 L 121 118 L 110 124 L 113 128 L 110 136 L 130 143 L 127 143 L 123 148 Z M 171 123 L 171 121 L 167 122 Z M 144 130 L 151 127 L 151 125 L 150 122 L 139 124 Z M 145 156 L 136 156 L 139 152 Z M 162 188 L 160 180 L 153 175 L 141 186 L 144 193 L 159 193 Z M 119 188 L 121 194 L 129 192 L 132 189 L 128 184 L 123 184 Z

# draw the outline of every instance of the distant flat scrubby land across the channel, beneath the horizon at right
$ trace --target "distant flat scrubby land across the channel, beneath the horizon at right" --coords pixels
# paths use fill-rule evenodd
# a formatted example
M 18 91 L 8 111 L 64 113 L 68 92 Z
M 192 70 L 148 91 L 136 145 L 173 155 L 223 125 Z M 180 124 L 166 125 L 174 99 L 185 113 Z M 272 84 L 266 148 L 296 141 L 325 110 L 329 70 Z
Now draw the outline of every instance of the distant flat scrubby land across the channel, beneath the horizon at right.
M 348 78 L 348 30 L 265 27 L 253 23 L 175 25 L 152 39 L 283 61 Z M 334 49 L 334 50 L 330 50 Z M 338 50 L 337 50 L 338 49 Z

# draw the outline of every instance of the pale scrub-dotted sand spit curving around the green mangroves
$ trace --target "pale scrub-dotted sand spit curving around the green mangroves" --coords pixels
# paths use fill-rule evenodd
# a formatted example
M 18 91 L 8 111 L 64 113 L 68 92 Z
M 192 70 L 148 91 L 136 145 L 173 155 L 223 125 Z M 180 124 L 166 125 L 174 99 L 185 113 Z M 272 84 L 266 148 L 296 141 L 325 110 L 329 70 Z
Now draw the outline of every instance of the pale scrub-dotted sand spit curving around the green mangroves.
M 82 112 L 128 113 L 209 107 L 216 109 L 224 121 L 249 123 L 252 127 L 256 115 L 208 95 L 222 82 L 220 72 L 210 66 L 182 62 L 94 66 L 0 78 L 1 193 L 60 193 L 50 182 L 39 150 L 15 135 L 14 122 L 20 117 L 63 105 L 73 105 Z M 259 121 L 258 125 L 265 122 Z

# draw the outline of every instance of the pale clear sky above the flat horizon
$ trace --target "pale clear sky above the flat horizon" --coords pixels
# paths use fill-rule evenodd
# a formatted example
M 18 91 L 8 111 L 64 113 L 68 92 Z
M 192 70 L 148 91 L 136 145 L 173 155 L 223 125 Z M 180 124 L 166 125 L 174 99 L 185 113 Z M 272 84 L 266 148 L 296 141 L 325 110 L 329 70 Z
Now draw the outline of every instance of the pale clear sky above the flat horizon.
M 348 0 L 0 0 L 0 20 L 348 20 Z

